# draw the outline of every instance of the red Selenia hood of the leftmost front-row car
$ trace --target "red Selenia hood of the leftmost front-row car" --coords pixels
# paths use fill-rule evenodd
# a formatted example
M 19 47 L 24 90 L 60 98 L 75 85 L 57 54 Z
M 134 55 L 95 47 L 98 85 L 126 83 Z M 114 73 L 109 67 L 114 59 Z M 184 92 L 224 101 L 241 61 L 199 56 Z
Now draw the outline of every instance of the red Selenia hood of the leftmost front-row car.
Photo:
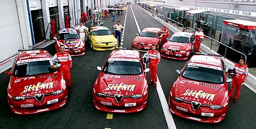
M 63 89 L 65 81 L 60 72 L 29 77 L 13 77 L 9 85 L 9 93 L 14 96 L 31 96 L 47 94 Z

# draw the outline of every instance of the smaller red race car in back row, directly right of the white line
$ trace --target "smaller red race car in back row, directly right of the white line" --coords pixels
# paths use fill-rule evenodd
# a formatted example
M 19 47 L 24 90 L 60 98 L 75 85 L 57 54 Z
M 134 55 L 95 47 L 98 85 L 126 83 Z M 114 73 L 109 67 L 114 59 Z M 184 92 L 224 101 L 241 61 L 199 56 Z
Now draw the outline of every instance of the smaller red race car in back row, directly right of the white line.
M 144 28 L 140 34 L 133 40 L 131 47 L 139 49 L 151 49 L 151 45 L 155 44 L 156 48 L 160 43 L 159 36 L 162 35 L 161 28 Z

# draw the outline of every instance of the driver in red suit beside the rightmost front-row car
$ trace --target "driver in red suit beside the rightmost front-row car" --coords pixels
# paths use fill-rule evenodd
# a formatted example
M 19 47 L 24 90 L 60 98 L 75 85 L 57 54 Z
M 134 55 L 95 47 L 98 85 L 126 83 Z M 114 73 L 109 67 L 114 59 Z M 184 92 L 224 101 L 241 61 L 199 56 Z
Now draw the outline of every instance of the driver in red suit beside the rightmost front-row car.
M 230 86 L 229 91 L 229 100 L 233 97 L 233 91 L 236 86 L 236 92 L 234 95 L 234 103 L 237 103 L 237 99 L 240 94 L 241 85 L 246 81 L 246 78 L 248 77 L 249 69 L 246 65 L 244 65 L 245 59 L 241 58 L 239 61 L 239 64 L 235 64 L 234 68 L 236 69 L 236 74 L 232 77 L 232 82 Z

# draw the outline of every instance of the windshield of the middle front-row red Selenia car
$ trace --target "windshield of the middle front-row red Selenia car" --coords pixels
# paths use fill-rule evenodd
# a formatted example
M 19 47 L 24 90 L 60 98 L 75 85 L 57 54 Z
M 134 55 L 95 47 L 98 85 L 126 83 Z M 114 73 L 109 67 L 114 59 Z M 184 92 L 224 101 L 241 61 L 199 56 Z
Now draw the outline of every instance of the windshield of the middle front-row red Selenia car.
M 104 67 L 104 73 L 117 75 L 138 75 L 142 74 L 142 67 L 139 62 L 133 61 L 108 61 Z

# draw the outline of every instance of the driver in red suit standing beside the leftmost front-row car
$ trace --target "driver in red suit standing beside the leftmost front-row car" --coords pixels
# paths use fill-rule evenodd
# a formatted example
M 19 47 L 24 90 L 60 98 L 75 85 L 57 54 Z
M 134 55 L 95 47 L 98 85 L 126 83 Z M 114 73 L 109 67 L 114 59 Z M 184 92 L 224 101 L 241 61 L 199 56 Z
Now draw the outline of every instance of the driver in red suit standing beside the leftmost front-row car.
M 65 52 L 65 46 L 60 45 L 60 52 L 57 52 L 52 60 L 59 60 L 60 61 L 60 67 L 59 71 L 63 74 L 63 78 L 66 82 L 66 86 L 68 88 L 68 91 L 71 92 L 72 89 L 72 82 L 71 82 L 71 74 L 70 69 L 72 67 L 72 59 L 68 52 Z M 56 68 L 54 65 L 52 65 L 53 68 Z

